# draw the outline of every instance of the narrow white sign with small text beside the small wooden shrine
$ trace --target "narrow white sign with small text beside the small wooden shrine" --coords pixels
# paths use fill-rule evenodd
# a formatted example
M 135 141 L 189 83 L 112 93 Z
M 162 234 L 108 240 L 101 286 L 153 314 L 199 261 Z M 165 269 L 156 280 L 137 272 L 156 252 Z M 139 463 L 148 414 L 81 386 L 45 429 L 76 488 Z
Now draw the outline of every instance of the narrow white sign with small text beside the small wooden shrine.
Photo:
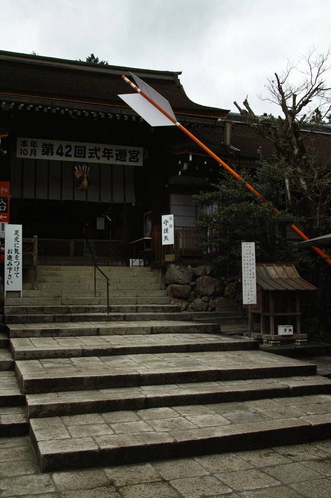
M 243 304 L 256 304 L 255 243 L 242 242 Z

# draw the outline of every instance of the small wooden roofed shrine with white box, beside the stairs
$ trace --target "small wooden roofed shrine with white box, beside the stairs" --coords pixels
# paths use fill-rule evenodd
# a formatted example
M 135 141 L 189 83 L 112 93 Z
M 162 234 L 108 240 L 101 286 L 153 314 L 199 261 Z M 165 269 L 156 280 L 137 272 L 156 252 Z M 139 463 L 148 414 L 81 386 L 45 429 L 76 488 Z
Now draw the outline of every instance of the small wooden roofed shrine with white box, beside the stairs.
M 241 263 L 239 263 L 241 264 Z M 249 335 L 267 341 L 305 340 L 300 333 L 300 292 L 317 290 L 301 278 L 296 269 L 299 263 L 256 263 L 256 304 L 248 305 Z M 241 281 L 241 274 L 238 283 Z M 254 333 L 254 313 L 261 319 L 261 332 Z M 291 323 L 295 318 L 295 324 Z M 293 335 L 278 335 L 277 326 L 294 326 Z

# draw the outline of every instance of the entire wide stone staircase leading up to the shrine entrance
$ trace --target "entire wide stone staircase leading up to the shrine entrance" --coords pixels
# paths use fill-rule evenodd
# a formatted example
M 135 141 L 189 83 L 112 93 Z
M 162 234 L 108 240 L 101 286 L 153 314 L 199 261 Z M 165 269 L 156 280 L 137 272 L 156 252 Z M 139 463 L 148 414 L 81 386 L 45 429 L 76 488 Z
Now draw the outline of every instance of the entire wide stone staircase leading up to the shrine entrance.
M 331 436 L 315 365 L 221 333 L 246 317 L 170 306 L 149 268 L 102 271 L 109 314 L 91 267 L 39 267 L 38 290 L 5 298 L 0 435 L 29 425 L 42 471 Z

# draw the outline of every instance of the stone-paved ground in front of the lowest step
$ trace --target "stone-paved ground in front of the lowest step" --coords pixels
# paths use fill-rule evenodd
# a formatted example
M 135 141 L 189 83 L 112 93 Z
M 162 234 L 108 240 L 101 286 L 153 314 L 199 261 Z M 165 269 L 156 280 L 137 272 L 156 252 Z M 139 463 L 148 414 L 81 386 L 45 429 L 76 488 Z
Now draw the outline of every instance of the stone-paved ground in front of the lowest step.
M 331 439 L 42 474 L 28 436 L 0 439 L 0 498 L 330 498 Z

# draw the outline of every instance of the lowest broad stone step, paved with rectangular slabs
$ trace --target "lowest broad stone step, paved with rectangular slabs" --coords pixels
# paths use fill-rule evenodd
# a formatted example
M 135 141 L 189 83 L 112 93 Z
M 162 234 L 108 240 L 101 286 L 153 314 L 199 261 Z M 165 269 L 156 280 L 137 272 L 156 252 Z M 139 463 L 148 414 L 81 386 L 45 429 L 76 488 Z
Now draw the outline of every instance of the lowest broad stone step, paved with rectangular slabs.
M 305 396 L 310 406 L 330 395 Z M 34 418 L 30 435 L 42 472 L 252 450 L 328 438 L 331 414 L 310 415 L 296 397 L 206 406 Z M 270 403 L 273 401 L 273 403 Z M 272 406 L 272 408 L 270 408 Z M 306 408 L 305 408 L 306 407 Z M 307 413 L 308 411 L 308 413 Z M 285 495 L 284 495 L 285 496 Z

